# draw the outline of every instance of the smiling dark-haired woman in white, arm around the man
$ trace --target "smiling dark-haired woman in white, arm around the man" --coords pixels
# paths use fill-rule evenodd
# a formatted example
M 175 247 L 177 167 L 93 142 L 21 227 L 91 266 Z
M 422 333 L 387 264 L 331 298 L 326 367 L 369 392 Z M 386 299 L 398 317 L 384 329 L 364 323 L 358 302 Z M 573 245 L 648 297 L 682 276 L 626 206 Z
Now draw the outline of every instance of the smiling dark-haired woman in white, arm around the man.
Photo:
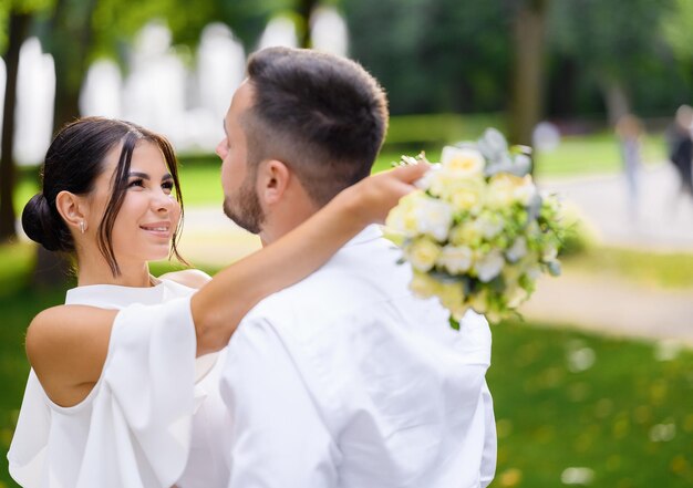
M 8 454 L 12 477 L 24 487 L 90 488 L 223 479 L 226 468 L 214 457 L 220 449 L 213 446 L 223 436 L 205 427 L 223 422 L 225 412 L 210 386 L 214 356 L 203 355 L 223 350 L 262 298 L 382 221 L 425 170 L 366 178 L 214 279 L 192 269 L 156 278 L 147 261 L 182 260 L 183 203 L 170 144 L 123 121 L 89 117 L 65 126 L 46 153 L 42 191 L 27 204 L 22 225 L 44 248 L 75 258 L 77 287 L 65 303 L 90 307 L 55 307 L 29 326 L 32 368 Z M 189 314 L 194 330 L 180 320 Z M 115 318 L 112 326 L 94 325 L 104 315 Z M 197 373 L 196 356 L 203 356 Z

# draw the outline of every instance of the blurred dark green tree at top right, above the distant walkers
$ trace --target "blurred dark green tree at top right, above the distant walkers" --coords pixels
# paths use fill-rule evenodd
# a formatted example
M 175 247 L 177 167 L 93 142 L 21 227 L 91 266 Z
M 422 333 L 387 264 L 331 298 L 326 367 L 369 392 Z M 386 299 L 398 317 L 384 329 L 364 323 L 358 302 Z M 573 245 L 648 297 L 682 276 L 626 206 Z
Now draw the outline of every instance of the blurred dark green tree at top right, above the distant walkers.
M 669 89 L 659 85 L 672 58 L 661 25 L 675 1 L 554 0 L 551 52 L 576 61 L 601 92 L 611 123 L 632 112 L 635 92 L 652 98 L 658 90 L 671 91 L 671 76 Z

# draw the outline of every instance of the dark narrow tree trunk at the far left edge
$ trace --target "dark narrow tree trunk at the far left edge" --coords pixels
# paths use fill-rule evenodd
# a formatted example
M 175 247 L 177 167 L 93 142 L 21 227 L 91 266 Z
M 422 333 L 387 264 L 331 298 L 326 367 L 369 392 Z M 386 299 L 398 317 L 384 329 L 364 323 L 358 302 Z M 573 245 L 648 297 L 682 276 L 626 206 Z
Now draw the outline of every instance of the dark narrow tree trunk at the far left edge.
M 17 73 L 19 50 L 27 38 L 31 15 L 10 12 L 10 32 L 7 55 L 7 83 L 4 90 L 4 112 L 2 115 L 2 156 L 0 157 L 0 241 L 17 237 L 14 210 L 14 107 L 17 105 Z

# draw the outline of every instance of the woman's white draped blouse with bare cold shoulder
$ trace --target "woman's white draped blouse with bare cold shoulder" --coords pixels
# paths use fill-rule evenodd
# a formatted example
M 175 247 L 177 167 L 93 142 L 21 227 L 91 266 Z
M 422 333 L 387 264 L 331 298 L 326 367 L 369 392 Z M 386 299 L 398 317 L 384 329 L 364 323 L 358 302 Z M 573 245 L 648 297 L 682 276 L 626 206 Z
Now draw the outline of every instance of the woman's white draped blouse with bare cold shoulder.
M 224 478 L 226 468 L 215 458 L 218 446 L 210 445 L 215 439 L 206 424 L 225 412 L 215 402 L 214 357 L 195 361 L 189 307 L 195 291 L 169 280 L 144 289 L 99 284 L 68 291 L 66 304 L 121 312 L 101 377 L 77 405 L 51 402 L 30 372 L 8 453 L 17 482 L 30 488 L 187 488 Z M 196 463 L 186 467 L 189 455 Z

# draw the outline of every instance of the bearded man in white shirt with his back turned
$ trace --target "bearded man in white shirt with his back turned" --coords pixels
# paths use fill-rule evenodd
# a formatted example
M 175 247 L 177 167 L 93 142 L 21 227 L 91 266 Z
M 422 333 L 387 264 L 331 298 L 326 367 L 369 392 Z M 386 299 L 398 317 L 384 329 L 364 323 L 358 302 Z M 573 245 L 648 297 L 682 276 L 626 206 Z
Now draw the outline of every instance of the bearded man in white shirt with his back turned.
M 270 245 L 371 172 L 386 100 L 359 64 L 262 50 L 225 118 L 225 211 Z M 260 302 L 229 343 L 221 395 L 237 487 L 485 487 L 496 438 L 486 320 L 453 331 L 377 228 Z M 287 262 L 286 266 L 291 266 Z

